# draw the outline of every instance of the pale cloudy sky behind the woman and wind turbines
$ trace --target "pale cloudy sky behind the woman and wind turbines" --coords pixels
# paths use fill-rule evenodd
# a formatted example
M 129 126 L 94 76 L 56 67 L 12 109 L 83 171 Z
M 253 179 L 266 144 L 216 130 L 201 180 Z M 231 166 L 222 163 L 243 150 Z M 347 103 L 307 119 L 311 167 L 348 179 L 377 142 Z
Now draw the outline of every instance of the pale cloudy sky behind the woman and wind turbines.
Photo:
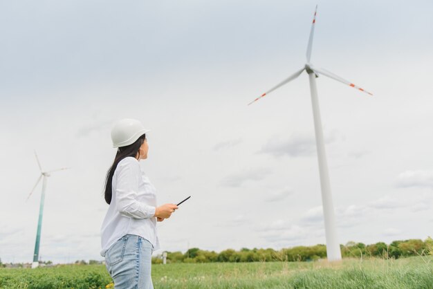
M 142 169 L 161 250 L 325 243 L 311 63 L 374 93 L 316 79 L 338 241 L 426 239 L 433 227 L 432 1 L 1 1 L 0 258 L 102 260 L 110 130 L 151 129 Z

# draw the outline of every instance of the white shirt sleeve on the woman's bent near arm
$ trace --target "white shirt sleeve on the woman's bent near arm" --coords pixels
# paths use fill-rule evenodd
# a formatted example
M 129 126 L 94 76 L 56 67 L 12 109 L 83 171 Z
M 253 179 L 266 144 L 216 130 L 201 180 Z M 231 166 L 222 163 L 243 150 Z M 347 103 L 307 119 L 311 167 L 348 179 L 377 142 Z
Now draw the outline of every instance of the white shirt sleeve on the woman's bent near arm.
M 138 184 L 141 169 L 138 162 L 132 158 L 125 158 L 118 164 L 116 209 L 120 214 L 132 218 L 151 218 L 155 215 L 155 207 L 140 203 L 138 198 Z

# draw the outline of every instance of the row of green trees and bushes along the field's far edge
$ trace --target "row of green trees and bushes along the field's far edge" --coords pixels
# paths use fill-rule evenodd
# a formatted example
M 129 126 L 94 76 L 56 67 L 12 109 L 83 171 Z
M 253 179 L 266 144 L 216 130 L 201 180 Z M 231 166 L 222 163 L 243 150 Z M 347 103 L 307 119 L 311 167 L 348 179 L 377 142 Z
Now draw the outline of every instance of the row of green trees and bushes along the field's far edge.
M 348 242 L 340 245 L 343 258 L 398 259 L 410 256 L 433 255 L 433 239 L 409 239 L 393 241 L 389 245 L 378 242 L 371 245 Z M 326 245 L 297 246 L 281 250 L 248 249 L 214 251 L 191 248 L 187 252 L 167 252 L 167 263 L 210 263 L 210 262 L 258 262 L 258 261 L 316 261 L 326 259 Z M 162 254 L 152 258 L 152 263 L 163 263 Z

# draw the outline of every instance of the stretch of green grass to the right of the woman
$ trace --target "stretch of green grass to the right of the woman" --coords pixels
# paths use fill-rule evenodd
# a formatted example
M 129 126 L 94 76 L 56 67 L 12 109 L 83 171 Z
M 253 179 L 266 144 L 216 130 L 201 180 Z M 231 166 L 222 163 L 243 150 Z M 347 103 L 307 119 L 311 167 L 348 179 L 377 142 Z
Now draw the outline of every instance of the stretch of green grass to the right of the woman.
M 433 262 L 421 257 L 342 262 L 154 265 L 155 288 L 433 288 Z

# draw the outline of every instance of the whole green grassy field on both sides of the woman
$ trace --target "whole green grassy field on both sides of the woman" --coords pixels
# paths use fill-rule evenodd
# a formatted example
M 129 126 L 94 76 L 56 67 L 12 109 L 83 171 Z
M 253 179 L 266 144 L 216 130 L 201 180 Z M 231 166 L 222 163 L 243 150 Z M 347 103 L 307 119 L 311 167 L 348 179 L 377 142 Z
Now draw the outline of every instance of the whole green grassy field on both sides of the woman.
M 433 257 L 153 265 L 155 288 L 433 288 Z M 111 288 L 104 265 L 0 269 L 0 288 Z

